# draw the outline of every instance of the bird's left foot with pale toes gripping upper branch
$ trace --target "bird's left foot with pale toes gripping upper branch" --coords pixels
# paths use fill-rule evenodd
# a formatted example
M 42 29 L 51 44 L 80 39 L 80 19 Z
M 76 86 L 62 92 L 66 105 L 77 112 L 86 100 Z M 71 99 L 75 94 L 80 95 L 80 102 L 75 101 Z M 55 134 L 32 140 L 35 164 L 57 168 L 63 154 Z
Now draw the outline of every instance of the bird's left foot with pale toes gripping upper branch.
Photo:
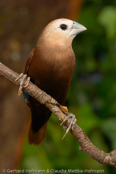
M 29 85 L 29 82 L 30 82 L 30 77 L 27 77 L 27 74 L 23 74 L 21 73 L 16 79 L 15 79 L 15 82 L 18 81 L 19 79 L 21 79 L 21 82 L 20 82 L 20 86 L 19 86 L 19 90 L 18 90 L 18 95 L 21 95 L 22 93 L 22 89 L 23 88 L 26 88 L 28 85 Z M 24 81 L 26 80 L 26 84 L 24 84 Z

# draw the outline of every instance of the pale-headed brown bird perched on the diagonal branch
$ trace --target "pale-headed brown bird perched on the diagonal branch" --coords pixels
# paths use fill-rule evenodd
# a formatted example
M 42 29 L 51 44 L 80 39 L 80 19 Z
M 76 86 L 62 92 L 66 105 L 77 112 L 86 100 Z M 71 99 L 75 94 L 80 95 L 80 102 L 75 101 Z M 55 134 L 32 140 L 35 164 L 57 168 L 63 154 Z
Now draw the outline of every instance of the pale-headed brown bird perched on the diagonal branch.
M 75 68 L 75 54 L 72 41 L 86 27 L 76 21 L 60 18 L 51 21 L 42 31 L 37 45 L 32 49 L 25 65 L 19 95 L 29 81 L 51 95 L 64 106 Z M 23 86 L 27 78 L 27 84 Z M 45 137 L 51 111 L 24 92 L 26 103 L 31 109 L 31 125 L 28 133 L 29 144 L 39 145 Z M 64 107 L 65 109 L 65 107 Z

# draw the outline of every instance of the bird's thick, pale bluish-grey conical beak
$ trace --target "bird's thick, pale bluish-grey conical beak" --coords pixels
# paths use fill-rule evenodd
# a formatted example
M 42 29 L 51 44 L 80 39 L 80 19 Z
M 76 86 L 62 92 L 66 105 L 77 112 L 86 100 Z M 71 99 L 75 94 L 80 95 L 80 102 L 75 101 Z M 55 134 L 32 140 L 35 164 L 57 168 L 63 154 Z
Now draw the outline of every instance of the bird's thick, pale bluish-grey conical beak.
M 72 28 L 70 30 L 69 36 L 76 36 L 77 34 L 81 33 L 82 31 L 85 31 L 85 30 L 87 30 L 86 27 L 73 21 L 73 25 L 72 25 Z

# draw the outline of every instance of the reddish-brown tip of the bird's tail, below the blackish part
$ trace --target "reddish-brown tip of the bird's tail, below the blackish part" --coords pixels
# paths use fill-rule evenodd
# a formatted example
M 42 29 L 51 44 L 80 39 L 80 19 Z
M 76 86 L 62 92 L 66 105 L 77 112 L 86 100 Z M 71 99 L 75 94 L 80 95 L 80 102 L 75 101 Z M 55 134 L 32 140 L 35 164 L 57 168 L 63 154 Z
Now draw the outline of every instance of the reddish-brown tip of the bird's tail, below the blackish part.
M 47 122 L 37 132 L 34 133 L 32 130 L 32 126 L 30 126 L 28 134 L 29 144 L 39 145 L 45 137 L 46 127 L 47 127 Z

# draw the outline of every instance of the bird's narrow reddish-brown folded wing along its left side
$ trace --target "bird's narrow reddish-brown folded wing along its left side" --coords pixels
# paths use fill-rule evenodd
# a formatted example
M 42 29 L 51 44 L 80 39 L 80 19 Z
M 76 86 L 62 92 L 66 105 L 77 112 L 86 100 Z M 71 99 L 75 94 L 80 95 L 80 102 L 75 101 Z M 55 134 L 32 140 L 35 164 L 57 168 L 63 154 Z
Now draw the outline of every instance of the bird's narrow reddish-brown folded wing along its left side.
M 28 70 L 29 70 L 30 65 L 31 65 L 31 62 L 33 60 L 34 52 L 35 52 L 35 48 L 33 48 L 32 51 L 29 54 L 29 57 L 27 59 L 26 65 L 25 65 L 25 72 L 24 72 L 24 74 L 27 74 L 28 75 Z

